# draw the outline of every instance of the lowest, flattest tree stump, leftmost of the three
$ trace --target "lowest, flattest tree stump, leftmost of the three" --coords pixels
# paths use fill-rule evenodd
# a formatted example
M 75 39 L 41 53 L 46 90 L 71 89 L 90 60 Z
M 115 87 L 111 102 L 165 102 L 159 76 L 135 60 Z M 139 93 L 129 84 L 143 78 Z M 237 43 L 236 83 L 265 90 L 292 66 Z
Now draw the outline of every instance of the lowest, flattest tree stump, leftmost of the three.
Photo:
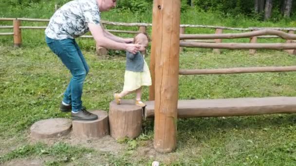
M 35 139 L 57 138 L 67 135 L 71 126 L 71 119 L 66 118 L 40 120 L 31 126 L 31 136 Z

